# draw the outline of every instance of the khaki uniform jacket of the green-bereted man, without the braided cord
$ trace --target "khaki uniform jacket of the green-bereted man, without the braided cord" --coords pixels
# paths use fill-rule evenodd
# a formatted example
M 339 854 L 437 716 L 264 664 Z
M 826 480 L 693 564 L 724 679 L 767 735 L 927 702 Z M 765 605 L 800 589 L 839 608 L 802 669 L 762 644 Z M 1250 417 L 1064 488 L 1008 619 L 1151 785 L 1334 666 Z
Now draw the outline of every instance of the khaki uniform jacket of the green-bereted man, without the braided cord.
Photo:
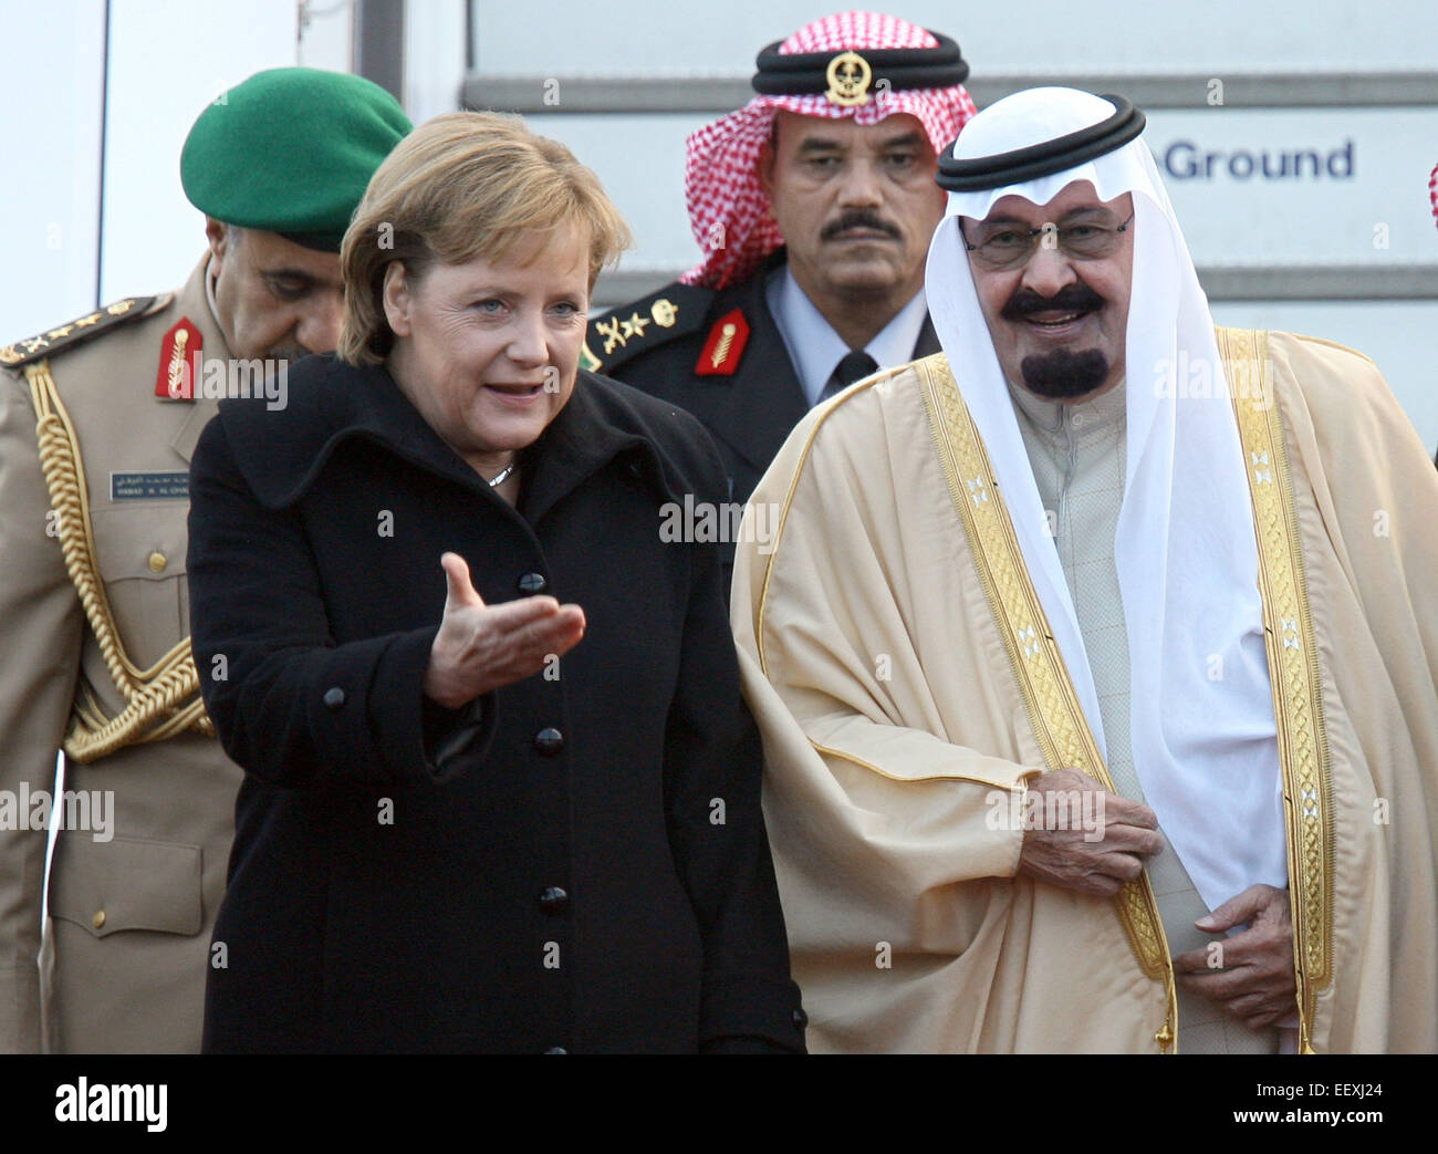
M 116 306 L 118 308 L 118 306 Z M 93 565 L 128 660 L 142 675 L 188 639 L 190 455 L 217 400 L 157 396 L 181 351 L 229 361 L 206 262 L 177 294 L 99 309 L 0 350 L 0 1049 L 193 1052 L 210 931 L 224 891 L 242 771 L 187 731 L 81 764 L 65 758 L 37 964 L 46 833 L 39 791 L 73 702 L 125 707 L 56 537 L 36 409 L 17 357 L 46 353 L 85 472 Z M 188 322 L 184 325 L 183 322 Z M 36 345 L 36 341 L 40 341 Z M 193 361 L 191 361 L 193 363 Z

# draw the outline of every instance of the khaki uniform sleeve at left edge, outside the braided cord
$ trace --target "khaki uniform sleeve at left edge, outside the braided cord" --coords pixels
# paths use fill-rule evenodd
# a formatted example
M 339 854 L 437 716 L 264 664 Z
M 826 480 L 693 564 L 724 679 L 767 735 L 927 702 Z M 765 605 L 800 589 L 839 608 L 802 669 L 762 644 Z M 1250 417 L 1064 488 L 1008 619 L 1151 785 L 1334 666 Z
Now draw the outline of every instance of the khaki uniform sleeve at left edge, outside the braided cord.
M 29 827 L 23 794 L 49 793 L 75 696 L 85 619 L 47 535 L 35 406 L 17 373 L 0 373 L 0 1052 L 40 1049 L 40 901 L 46 832 Z

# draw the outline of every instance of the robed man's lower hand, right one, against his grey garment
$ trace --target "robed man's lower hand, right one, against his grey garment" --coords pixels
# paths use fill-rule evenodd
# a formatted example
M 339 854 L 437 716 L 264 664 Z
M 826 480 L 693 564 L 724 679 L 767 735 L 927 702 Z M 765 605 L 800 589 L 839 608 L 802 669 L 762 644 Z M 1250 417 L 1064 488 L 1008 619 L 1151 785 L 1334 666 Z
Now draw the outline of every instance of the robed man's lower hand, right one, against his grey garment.
M 1257 1030 L 1297 1013 L 1288 891 L 1251 885 L 1194 924 L 1205 932 L 1222 932 L 1244 922 L 1248 928 L 1241 934 L 1179 954 L 1173 973 L 1185 990 L 1202 994 Z

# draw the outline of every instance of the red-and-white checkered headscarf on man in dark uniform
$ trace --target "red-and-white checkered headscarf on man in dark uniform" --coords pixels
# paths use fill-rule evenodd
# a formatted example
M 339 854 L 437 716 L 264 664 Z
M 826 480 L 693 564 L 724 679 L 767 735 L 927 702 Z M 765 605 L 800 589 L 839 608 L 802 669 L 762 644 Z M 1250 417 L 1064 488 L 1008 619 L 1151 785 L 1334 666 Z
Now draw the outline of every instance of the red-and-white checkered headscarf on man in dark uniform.
M 843 12 L 805 24 L 779 46 L 779 52 L 788 56 L 797 52 L 938 45 L 928 30 L 896 16 Z M 700 128 L 686 141 L 684 200 L 705 259 L 679 278 L 683 283 L 725 288 L 743 281 L 784 243 L 758 176 L 759 151 L 769 138 L 774 114 L 779 108 L 804 117 L 853 117 L 866 125 L 907 112 L 923 124 L 935 153 L 942 153 L 975 112 L 963 85 L 893 89 L 850 108 L 833 104 L 824 95 L 759 95 L 739 111 Z

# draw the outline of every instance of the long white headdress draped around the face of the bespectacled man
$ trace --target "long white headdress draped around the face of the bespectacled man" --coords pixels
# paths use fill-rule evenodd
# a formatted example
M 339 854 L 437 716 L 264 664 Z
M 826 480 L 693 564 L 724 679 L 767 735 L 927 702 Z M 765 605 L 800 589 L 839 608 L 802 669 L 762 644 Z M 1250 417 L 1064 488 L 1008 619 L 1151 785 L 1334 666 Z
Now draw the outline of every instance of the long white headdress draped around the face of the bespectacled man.
M 1021 167 L 1008 168 L 1021 183 L 1007 183 L 998 165 L 992 178 L 978 181 L 998 181 L 998 187 L 949 193 L 929 247 L 925 286 L 939 341 L 984 437 L 1028 571 L 1103 748 L 1078 620 L 979 309 L 958 217 L 982 220 L 1005 196 L 1047 204 L 1080 180 L 1090 181 L 1104 201 L 1133 194 L 1125 345 L 1127 469 L 1114 534 L 1129 633 L 1132 751 L 1149 804 L 1214 908 L 1255 882 L 1287 883 L 1258 554 L 1214 321 L 1153 157 L 1135 138 L 1142 117 L 1127 142 L 1107 153 L 1096 155 L 1090 142 L 1058 171 L 1051 161 L 1032 163 L 1034 154 L 1045 151 L 1043 145 L 1114 122 L 1116 108 L 1122 112 L 1120 104 L 1089 92 L 1037 88 L 1007 96 L 969 121 L 955 142 L 953 167 L 984 167 L 972 161 L 1028 150 L 1011 158 L 1022 161 Z M 1204 374 L 1206 387 L 1191 389 Z

